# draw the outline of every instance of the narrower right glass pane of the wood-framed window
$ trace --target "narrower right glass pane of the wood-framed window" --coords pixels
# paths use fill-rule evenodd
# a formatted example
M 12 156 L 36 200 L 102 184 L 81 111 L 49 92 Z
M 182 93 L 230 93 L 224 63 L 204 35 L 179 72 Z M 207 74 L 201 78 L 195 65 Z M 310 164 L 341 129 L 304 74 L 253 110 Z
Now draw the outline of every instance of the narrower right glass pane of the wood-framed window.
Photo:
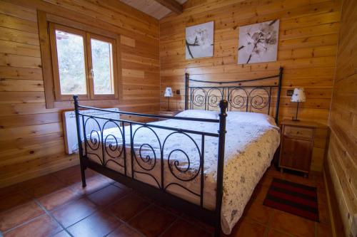
M 114 94 L 111 43 L 91 39 L 94 94 Z

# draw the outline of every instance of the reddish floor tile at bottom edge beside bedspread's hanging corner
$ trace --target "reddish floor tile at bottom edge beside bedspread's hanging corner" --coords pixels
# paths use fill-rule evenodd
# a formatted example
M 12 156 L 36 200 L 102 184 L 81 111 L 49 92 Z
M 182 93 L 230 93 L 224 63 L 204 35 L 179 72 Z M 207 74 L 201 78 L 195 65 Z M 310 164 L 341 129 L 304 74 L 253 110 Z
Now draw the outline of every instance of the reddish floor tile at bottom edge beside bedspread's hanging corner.
M 230 237 L 241 237 L 241 236 L 249 236 L 249 237 L 262 237 L 264 236 L 264 232 L 266 230 L 265 226 L 262 226 L 258 223 L 252 223 L 248 221 L 240 221 L 229 235 Z

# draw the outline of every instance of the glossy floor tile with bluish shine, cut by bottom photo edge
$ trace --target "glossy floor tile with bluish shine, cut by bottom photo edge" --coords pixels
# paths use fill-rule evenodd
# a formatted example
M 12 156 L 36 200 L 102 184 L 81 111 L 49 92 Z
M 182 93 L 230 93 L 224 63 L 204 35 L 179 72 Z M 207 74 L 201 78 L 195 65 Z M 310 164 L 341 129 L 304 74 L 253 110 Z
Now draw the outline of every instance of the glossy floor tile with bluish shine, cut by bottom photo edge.
M 85 218 L 74 226 L 68 228 L 68 231 L 73 236 L 106 236 L 111 233 L 116 227 L 121 225 L 121 221 L 114 216 L 106 214 L 104 211 L 96 212 L 95 214 Z

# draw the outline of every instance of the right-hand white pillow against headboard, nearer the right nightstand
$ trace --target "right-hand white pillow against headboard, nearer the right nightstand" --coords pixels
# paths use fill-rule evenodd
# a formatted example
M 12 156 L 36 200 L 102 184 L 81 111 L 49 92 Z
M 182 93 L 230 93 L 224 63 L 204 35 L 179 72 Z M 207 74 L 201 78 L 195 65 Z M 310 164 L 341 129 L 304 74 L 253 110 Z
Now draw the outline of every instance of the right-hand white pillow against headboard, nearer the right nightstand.
M 276 127 L 273 117 L 258 112 L 228 111 L 227 122 L 249 122 L 255 125 Z

